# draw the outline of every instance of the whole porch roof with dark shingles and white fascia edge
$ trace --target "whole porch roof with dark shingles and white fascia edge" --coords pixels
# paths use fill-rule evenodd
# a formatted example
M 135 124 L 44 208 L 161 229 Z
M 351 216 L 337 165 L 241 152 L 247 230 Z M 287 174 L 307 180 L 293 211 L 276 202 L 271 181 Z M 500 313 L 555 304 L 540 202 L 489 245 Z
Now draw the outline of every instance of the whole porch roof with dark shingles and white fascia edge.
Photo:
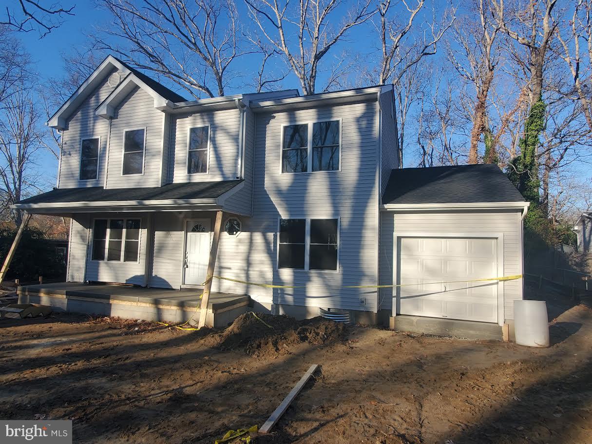
M 233 181 L 210 181 L 166 184 L 145 188 L 56 188 L 37 196 L 21 200 L 13 208 L 20 208 L 31 213 L 39 211 L 98 211 L 110 208 L 170 207 L 184 205 L 208 205 L 215 207 L 222 204 L 222 198 L 243 179 Z

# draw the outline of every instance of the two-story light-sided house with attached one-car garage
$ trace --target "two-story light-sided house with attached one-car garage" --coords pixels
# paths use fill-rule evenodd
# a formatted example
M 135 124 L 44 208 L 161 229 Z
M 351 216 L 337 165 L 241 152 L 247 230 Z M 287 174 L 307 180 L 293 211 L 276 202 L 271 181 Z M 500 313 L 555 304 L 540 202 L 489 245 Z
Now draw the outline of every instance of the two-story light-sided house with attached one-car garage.
M 17 207 L 72 217 L 68 281 L 199 287 L 221 210 L 215 275 L 299 287 L 214 280 L 257 310 L 499 326 L 522 299 L 455 281 L 522 273 L 527 202 L 497 166 L 398 169 L 391 85 L 186 101 L 110 56 L 49 126 L 57 188 Z

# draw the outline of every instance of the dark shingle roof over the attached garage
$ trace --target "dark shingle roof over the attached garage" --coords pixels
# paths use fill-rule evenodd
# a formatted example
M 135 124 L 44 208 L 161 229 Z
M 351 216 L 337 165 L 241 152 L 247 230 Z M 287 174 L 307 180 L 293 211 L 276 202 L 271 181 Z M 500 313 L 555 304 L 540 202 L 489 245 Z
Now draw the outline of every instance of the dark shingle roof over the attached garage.
M 497 165 L 394 169 L 383 204 L 523 202 L 522 194 Z

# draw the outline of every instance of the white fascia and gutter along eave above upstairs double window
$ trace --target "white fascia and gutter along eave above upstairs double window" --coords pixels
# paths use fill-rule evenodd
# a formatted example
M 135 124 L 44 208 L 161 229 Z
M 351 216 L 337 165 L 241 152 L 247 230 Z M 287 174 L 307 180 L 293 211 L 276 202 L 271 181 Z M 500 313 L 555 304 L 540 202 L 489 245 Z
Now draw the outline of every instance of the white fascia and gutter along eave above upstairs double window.
M 283 111 L 308 106 L 343 105 L 356 102 L 369 102 L 377 99 L 381 86 L 353 89 L 352 91 L 327 92 L 324 94 L 305 95 L 289 99 L 251 102 L 253 112 Z

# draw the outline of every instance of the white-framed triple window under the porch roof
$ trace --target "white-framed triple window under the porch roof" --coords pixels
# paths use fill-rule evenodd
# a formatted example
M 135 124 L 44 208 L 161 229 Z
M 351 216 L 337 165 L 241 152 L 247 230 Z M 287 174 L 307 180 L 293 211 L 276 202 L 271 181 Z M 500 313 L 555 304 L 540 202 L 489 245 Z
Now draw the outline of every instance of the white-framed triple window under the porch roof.
M 140 219 L 95 219 L 92 260 L 137 262 L 140 254 Z

